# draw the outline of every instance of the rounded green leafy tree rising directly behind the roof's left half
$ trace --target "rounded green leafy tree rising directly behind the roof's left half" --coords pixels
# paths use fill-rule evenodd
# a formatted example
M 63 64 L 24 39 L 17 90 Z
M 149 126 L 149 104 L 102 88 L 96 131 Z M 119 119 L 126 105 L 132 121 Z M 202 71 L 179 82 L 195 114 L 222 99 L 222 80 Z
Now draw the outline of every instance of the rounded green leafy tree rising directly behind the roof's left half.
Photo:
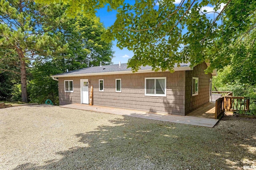
M 64 38 L 69 44 L 67 53 L 70 57 L 64 59 L 68 70 L 76 70 L 89 66 L 111 64 L 114 52 L 112 43 L 101 39 L 106 32 L 98 17 L 86 17 L 82 13 L 70 20 L 70 25 L 64 30 Z

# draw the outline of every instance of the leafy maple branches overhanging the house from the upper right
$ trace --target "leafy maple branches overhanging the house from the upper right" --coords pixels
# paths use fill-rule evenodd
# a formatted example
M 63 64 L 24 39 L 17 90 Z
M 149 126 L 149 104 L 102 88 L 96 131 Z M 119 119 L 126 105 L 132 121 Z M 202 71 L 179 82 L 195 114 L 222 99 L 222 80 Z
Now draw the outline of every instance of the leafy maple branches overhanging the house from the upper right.
M 37 0 L 51 3 L 52 0 Z M 134 52 L 128 66 L 134 71 L 150 65 L 153 70 L 173 70 L 176 63 L 191 65 L 210 61 L 210 72 L 230 64 L 222 51 L 234 51 L 230 46 L 241 35 L 256 29 L 256 2 L 254 0 L 137 0 L 134 4 L 124 0 L 72 1 L 68 14 L 83 10 L 93 15 L 97 9 L 116 10 L 116 21 L 104 38 L 117 40 L 119 48 Z M 213 6 L 214 10 L 205 10 Z M 210 17 L 208 14 L 213 13 Z M 243 54 L 245 55 L 245 54 Z

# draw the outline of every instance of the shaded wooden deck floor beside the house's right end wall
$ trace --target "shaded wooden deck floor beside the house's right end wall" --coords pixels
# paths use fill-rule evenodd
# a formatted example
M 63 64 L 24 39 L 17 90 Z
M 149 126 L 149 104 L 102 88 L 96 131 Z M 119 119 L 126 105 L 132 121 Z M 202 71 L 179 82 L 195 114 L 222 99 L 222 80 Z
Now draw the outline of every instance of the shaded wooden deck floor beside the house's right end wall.
M 186 116 L 215 119 L 215 101 L 200 106 L 198 109 L 188 113 Z

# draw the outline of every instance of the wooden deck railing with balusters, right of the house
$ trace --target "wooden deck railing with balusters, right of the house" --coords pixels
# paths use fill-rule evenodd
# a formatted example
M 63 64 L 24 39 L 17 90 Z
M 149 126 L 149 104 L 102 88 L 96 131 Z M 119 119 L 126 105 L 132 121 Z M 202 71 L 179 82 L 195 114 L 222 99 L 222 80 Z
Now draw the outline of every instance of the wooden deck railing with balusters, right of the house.
M 215 119 L 225 111 L 249 111 L 250 98 L 242 96 L 233 96 L 233 92 L 214 92 L 215 94 L 224 95 L 218 98 L 215 103 Z

